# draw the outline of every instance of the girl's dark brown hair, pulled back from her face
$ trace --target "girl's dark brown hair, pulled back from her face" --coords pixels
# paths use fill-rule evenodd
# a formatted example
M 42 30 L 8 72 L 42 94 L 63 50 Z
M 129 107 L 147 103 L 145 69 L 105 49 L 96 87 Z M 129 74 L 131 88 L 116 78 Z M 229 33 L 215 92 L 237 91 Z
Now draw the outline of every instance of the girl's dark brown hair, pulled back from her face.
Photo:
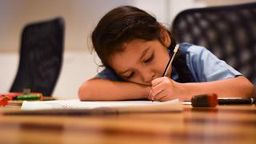
M 120 6 L 114 10 L 110 10 L 110 12 L 103 16 L 95 27 L 91 38 L 94 50 L 101 59 L 102 65 L 112 69 L 110 66 L 110 57 L 112 54 L 124 50 L 122 44 L 134 39 L 143 39 L 146 41 L 158 39 L 162 42 L 160 38 L 161 30 L 162 25 L 157 22 L 156 18 L 146 13 L 146 11 L 134 6 Z M 169 31 L 168 34 L 170 34 Z M 171 46 L 168 48 L 173 50 L 176 42 L 171 36 L 170 38 Z M 180 57 L 178 55 L 181 54 L 178 52 L 177 57 Z M 185 67 L 187 67 L 184 56 L 182 56 L 182 59 L 185 61 Z M 177 66 L 180 67 L 181 65 L 177 64 Z M 182 69 L 176 68 L 176 70 L 178 73 L 183 73 L 184 67 Z M 179 76 L 181 75 L 183 76 L 183 74 L 179 74 Z

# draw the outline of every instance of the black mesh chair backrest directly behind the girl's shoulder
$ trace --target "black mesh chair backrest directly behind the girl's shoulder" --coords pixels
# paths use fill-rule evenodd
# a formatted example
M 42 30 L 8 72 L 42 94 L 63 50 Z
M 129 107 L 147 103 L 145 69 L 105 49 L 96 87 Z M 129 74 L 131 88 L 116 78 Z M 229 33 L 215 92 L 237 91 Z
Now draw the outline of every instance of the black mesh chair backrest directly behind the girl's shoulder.
M 184 10 L 170 31 L 177 42 L 205 46 L 256 84 L 256 2 Z

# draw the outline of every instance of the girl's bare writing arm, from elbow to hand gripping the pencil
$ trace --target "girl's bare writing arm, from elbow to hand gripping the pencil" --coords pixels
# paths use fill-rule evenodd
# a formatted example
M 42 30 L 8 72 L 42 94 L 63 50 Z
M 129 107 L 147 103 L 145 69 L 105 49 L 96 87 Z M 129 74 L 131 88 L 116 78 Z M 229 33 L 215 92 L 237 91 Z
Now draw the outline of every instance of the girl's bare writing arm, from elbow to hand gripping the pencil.
M 254 85 L 245 77 L 226 78 L 214 82 L 178 83 L 170 78 L 156 78 L 152 82 L 149 99 L 166 101 L 174 98 L 190 100 L 198 94 L 218 94 L 218 97 L 250 98 Z

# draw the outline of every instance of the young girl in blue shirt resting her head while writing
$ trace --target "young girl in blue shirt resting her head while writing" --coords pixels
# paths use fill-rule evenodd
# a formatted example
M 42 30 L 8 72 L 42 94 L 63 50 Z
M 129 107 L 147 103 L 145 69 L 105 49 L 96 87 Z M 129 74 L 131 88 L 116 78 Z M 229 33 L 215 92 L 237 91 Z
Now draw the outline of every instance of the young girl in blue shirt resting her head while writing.
M 251 97 L 252 83 L 209 50 L 180 43 L 167 76 L 162 77 L 176 46 L 165 26 L 133 6 L 110 10 L 92 33 L 94 50 L 105 69 L 84 82 L 80 100 L 190 100 L 198 94 Z

